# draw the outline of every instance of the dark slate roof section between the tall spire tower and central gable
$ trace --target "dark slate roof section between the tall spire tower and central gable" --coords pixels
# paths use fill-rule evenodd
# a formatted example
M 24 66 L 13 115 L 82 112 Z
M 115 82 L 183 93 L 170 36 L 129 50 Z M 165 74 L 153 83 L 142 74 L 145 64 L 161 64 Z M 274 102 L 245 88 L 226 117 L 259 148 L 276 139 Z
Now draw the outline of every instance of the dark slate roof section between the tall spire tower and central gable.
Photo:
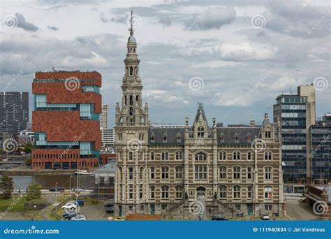
M 148 143 L 149 144 L 175 144 L 175 145 L 183 145 L 184 144 L 184 131 L 185 128 L 162 128 L 162 127 L 155 127 L 151 126 L 149 128 L 149 138 Z M 151 142 L 151 136 L 152 133 L 154 133 L 154 142 Z M 163 135 L 164 133 L 167 134 L 167 142 L 163 142 Z M 177 134 L 180 133 L 180 143 L 177 142 Z

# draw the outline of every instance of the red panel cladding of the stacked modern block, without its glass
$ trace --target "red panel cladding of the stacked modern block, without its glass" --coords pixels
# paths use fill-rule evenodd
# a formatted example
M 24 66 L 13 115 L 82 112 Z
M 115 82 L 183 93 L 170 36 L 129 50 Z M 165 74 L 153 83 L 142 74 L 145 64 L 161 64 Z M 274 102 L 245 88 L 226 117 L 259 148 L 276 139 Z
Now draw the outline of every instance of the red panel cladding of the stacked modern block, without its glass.
M 77 78 L 79 83 L 68 89 L 67 78 Z M 76 81 L 76 82 L 78 82 Z M 33 94 L 46 94 L 47 103 L 93 103 L 94 113 L 101 114 L 101 94 L 83 92 L 82 85 L 101 87 L 101 74 L 80 71 L 37 72 L 32 84 Z M 36 110 L 32 113 L 32 130 L 45 132 L 48 142 L 92 142 L 94 151 L 101 149 L 100 122 L 80 119 L 79 110 Z M 80 158 L 79 146 L 66 148 L 35 145 L 32 166 L 44 168 L 95 168 L 97 157 Z

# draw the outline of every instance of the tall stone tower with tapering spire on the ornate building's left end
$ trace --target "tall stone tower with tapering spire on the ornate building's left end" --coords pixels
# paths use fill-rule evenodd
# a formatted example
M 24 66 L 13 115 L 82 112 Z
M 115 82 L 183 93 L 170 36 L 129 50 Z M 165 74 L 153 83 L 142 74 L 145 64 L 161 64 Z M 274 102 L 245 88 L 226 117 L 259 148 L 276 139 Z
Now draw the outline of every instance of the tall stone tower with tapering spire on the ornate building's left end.
M 122 105 L 116 103 L 115 132 L 117 152 L 117 182 L 115 188 L 115 203 L 136 204 L 141 202 L 138 198 L 142 182 L 138 177 L 140 164 L 147 157 L 147 143 L 149 131 L 148 105 L 142 107 L 142 84 L 139 77 L 139 59 L 137 43 L 133 36 L 133 22 L 131 12 L 131 27 L 128 29 L 130 36 L 126 45 L 125 74 L 122 82 Z M 132 168 L 134 171 L 132 171 Z M 130 172 L 129 172 L 130 171 Z M 130 178 L 128 178 L 130 177 Z M 126 182 L 129 182 L 126 184 Z M 131 197 L 135 190 L 135 198 Z M 119 209 L 119 215 L 121 215 Z M 126 211 L 127 208 L 123 208 Z

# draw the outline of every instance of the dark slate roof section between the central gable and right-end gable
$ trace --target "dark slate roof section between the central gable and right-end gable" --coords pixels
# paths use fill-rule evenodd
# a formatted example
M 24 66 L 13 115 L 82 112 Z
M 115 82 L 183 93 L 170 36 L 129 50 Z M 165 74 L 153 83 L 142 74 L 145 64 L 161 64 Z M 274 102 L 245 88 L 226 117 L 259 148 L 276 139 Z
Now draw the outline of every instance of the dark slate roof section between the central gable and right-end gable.
M 238 144 L 249 143 L 247 142 L 247 136 L 251 136 L 251 140 L 260 138 L 260 127 L 220 127 L 217 128 L 217 143 L 219 144 Z M 224 142 L 221 142 L 221 135 L 223 133 Z M 235 142 L 235 135 L 238 136 L 238 141 Z

